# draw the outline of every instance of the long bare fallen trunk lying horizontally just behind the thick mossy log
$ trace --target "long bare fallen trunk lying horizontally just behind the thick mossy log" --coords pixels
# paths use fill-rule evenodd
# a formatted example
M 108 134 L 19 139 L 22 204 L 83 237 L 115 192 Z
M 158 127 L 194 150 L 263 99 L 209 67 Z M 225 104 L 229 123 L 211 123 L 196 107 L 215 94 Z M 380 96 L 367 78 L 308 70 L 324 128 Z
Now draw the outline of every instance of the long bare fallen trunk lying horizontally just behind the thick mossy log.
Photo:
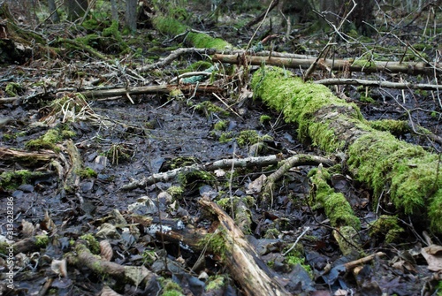
M 316 63 L 316 58 L 283 58 L 283 57 L 255 57 L 249 55 L 220 55 L 212 56 L 215 62 L 233 65 L 277 65 L 285 68 L 309 69 Z M 425 64 L 423 62 L 384 62 L 384 61 L 364 61 L 357 59 L 324 59 L 317 61 L 317 69 L 331 71 L 350 72 L 403 72 L 412 75 L 441 72 L 442 64 Z

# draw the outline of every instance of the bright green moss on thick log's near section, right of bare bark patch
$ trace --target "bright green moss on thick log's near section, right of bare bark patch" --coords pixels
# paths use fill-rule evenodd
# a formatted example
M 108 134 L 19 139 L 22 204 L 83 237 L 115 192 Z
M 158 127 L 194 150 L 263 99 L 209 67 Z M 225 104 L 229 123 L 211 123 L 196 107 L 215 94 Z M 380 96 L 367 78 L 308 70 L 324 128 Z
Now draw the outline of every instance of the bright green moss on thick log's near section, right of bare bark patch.
M 348 155 L 350 169 L 373 188 L 375 197 L 389 191 L 393 204 L 405 214 L 421 215 L 429 206 L 431 228 L 442 232 L 442 174 L 437 155 L 384 132 L 355 140 Z

